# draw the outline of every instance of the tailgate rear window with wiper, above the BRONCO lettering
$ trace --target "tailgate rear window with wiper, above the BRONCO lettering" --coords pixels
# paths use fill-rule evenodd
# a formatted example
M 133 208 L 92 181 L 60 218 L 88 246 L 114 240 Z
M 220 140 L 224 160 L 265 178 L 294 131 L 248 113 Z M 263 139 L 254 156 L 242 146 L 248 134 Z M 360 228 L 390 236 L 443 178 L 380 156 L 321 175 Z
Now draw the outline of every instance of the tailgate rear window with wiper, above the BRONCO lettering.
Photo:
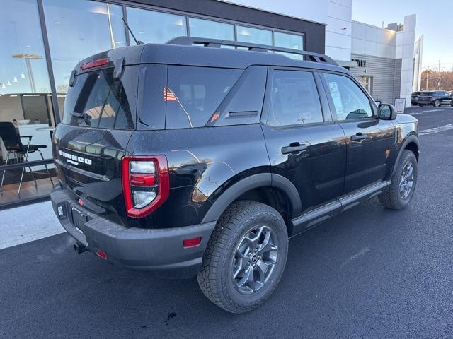
M 129 81 L 131 71 L 132 67 L 125 67 L 120 80 L 113 79 L 112 68 L 76 76 L 74 87 L 69 88 L 64 102 L 63 123 L 101 129 L 134 129 L 132 107 L 137 83 L 134 84 L 133 79 Z

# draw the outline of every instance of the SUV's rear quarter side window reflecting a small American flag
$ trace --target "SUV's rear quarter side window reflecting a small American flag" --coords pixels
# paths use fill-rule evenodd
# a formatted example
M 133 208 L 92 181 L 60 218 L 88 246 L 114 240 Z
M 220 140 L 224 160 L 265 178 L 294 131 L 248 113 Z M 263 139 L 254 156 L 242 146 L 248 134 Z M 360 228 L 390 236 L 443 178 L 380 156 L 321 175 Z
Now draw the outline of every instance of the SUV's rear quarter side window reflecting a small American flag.
M 243 70 L 168 66 L 166 129 L 205 126 Z

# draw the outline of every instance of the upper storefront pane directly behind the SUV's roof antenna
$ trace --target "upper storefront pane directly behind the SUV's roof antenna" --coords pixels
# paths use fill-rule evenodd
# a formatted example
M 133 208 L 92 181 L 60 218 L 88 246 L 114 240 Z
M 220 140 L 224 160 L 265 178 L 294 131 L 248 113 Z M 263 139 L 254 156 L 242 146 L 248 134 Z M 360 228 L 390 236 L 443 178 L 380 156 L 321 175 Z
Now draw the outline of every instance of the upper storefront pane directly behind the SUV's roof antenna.
M 127 24 L 137 40 L 163 44 L 173 37 L 187 35 L 185 16 L 127 7 Z M 132 36 L 130 41 L 134 41 Z

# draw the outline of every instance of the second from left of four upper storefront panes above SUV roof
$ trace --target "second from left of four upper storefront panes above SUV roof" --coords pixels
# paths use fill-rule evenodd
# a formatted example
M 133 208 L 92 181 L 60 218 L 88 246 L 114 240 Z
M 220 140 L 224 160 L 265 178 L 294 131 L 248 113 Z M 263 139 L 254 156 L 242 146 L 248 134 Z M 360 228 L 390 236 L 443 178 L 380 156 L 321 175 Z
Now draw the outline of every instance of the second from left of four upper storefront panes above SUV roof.
M 189 18 L 189 32 L 192 37 L 234 41 L 234 25 L 229 23 Z

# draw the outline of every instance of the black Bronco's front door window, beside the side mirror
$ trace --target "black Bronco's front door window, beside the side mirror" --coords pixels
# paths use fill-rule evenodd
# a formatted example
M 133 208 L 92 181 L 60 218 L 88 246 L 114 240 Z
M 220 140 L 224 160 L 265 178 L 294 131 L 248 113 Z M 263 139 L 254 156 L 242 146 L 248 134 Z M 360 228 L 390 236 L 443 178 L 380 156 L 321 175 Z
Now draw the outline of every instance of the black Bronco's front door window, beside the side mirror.
M 323 74 L 326 78 L 328 93 L 336 110 L 337 120 L 363 119 L 373 116 L 367 95 L 346 76 Z

